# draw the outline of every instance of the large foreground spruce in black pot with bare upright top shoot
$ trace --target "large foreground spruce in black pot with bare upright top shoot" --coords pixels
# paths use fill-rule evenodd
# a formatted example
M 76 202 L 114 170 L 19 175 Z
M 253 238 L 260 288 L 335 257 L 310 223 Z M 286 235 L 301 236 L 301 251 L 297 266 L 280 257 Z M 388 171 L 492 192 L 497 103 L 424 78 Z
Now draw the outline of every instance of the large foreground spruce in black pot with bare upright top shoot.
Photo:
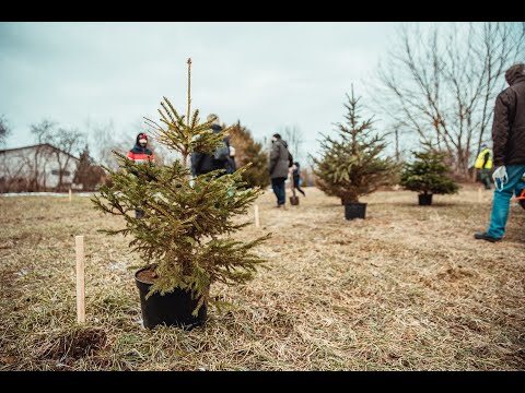
M 233 217 L 244 214 L 260 194 L 258 187 L 247 188 L 242 180 L 246 166 L 232 175 L 222 170 L 190 176 L 192 152 L 213 154 L 228 129 L 213 133 L 211 122 L 200 122 L 199 111 L 190 117 L 190 64 L 188 59 L 187 116 L 180 115 L 164 97 L 160 122 L 147 119 L 156 141 L 178 152 L 173 165 L 133 164 L 114 152 L 118 170 L 108 170 L 112 186 L 102 186 L 94 206 L 121 216 L 126 227 L 103 230 L 109 235 L 132 237 L 129 246 L 144 260 L 135 274 L 145 327 L 159 324 L 190 329 L 207 320 L 208 305 L 221 302 L 210 296 L 215 283 L 243 284 L 254 277 L 265 261 L 254 247 L 269 235 L 243 242 L 230 237 L 248 225 Z M 144 211 L 142 218 L 131 214 Z

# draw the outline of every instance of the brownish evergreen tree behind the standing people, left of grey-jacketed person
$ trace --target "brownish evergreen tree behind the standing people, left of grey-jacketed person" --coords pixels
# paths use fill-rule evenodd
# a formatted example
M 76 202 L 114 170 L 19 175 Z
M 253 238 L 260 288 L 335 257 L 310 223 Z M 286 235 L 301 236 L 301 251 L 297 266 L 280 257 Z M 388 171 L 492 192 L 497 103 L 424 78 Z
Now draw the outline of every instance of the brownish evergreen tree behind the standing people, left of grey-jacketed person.
M 243 180 L 249 187 L 266 188 L 270 184 L 268 175 L 268 153 L 260 142 L 255 142 L 252 132 L 237 121 L 230 132 L 230 143 L 235 147 L 235 162 L 237 166 L 250 164 L 243 174 Z

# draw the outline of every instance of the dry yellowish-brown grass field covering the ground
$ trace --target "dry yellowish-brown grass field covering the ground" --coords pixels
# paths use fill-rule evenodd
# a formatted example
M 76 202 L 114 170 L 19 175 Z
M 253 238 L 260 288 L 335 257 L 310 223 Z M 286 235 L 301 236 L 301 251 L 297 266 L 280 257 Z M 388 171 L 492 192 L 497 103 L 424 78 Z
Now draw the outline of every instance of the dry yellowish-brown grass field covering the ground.
M 504 241 L 476 241 L 492 193 L 376 192 L 366 219 L 306 188 L 299 206 L 258 201 L 269 270 L 212 286 L 233 307 L 206 325 L 148 331 L 121 219 L 89 198 L 0 198 L 2 370 L 524 370 L 525 211 Z M 287 195 L 288 198 L 288 195 Z M 240 219 L 253 221 L 249 216 Z M 74 236 L 84 235 L 86 323 L 75 323 Z

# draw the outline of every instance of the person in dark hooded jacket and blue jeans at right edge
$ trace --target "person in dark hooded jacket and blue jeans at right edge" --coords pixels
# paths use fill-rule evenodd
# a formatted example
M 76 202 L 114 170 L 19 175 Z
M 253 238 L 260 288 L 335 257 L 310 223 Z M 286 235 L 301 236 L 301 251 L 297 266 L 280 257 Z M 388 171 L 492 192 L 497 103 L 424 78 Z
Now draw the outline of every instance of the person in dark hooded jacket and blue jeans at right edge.
M 505 72 L 509 87 L 495 99 L 492 142 L 495 181 L 489 229 L 475 234 L 476 239 L 495 242 L 502 239 L 509 217 L 512 193 L 525 189 L 525 64 L 512 66 Z

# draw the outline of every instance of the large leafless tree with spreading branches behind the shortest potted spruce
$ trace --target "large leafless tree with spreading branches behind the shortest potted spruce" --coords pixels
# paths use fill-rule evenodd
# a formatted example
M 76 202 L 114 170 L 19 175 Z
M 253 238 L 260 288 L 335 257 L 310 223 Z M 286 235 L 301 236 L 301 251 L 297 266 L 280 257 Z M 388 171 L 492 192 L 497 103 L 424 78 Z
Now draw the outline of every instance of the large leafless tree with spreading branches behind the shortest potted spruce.
M 375 102 L 422 143 L 444 150 L 456 175 L 469 177 L 504 87 L 508 67 L 524 57 L 525 23 L 468 23 L 399 31 L 398 46 L 380 64 Z M 475 176 L 475 174 L 472 175 Z

